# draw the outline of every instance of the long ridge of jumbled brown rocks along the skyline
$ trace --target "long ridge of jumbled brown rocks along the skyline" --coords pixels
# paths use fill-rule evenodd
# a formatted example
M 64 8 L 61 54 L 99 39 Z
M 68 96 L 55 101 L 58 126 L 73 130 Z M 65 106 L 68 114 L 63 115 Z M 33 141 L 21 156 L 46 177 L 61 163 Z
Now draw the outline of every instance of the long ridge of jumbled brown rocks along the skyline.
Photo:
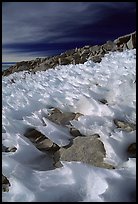
M 7 76 L 14 72 L 28 70 L 35 73 L 36 71 L 45 71 L 56 67 L 57 65 L 80 64 L 88 59 L 94 62 L 100 62 L 102 57 L 109 52 L 123 51 L 125 49 L 136 48 L 136 32 L 121 36 L 114 41 L 107 41 L 103 45 L 90 46 L 86 45 L 82 48 L 67 50 L 60 55 L 36 58 L 31 61 L 21 61 L 2 72 L 3 76 Z

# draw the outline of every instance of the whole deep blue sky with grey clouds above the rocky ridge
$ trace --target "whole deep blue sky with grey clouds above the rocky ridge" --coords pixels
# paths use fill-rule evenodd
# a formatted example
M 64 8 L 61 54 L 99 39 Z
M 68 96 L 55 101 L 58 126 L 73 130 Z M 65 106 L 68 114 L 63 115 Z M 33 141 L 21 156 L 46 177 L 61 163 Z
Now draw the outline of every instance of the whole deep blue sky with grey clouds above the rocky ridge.
M 2 62 L 53 56 L 136 30 L 136 2 L 3 2 Z

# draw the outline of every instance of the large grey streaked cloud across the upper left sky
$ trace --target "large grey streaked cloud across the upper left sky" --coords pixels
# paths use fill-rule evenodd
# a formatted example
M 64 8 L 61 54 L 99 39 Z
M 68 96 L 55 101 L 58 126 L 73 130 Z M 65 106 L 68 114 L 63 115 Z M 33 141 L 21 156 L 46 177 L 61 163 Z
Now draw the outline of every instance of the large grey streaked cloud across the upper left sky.
M 106 9 L 116 9 L 117 4 L 113 2 L 6 3 L 2 9 L 3 43 L 49 41 L 61 38 L 70 30 L 100 21 L 108 15 Z M 121 6 L 125 9 L 129 3 L 121 3 Z

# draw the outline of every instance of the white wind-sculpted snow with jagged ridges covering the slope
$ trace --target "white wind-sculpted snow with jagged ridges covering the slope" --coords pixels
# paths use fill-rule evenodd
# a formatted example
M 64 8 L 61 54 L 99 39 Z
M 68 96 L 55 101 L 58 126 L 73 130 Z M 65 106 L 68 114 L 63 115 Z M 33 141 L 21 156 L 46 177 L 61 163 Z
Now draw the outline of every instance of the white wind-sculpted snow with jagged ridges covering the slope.
M 129 202 L 136 191 L 136 159 L 126 148 L 136 132 L 118 129 L 113 120 L 136 122 L 136 50 L 106 54 L 100 63 L 58 66 L 2 78 L 2 143 L 16 152 L 2 153 L 2 172 L 9 179 L 3 202 Z M 11 80 L 15 83 L 11 83 Z M 108 104 L 100 100 L 106 99 Z M 82 134 L 99 134 L 106 157 L 115 169 L 52 159 L 24 137 L 35 127 L 59 146 L 69 131 L 46 119 L 51 107 L 83 115 L 71 121 Z

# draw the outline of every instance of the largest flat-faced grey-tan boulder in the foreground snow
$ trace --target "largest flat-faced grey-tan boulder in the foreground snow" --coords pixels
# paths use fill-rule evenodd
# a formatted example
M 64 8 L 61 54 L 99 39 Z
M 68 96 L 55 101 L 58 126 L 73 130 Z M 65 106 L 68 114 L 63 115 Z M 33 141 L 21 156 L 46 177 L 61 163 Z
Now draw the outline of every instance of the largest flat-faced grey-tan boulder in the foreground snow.
M 54 154 L 55 166 L 59 167 L 60 161 L 81 161 L 97 167 L 114 168 L 112 165 L 104 163 L 105 149 L 98 137 L 97 135 L 78 136 L 73 139 L 73 144 L 70 147 L 62 147 Z

